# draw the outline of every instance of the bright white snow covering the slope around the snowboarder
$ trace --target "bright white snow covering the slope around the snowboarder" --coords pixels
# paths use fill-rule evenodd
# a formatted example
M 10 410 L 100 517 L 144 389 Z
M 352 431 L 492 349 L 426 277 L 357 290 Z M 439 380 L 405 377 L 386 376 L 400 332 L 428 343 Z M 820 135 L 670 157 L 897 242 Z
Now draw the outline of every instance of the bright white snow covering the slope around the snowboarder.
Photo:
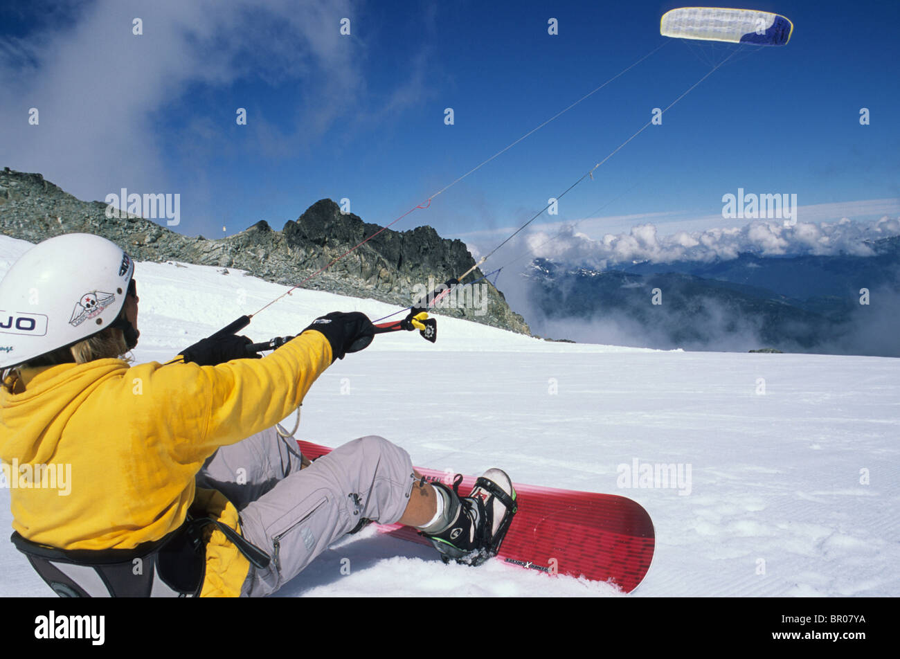
M 0 237 L 0 274 L 28 247 Z M 139 362 L 165 361 L 286 290 L 220 270 L 137 265 Z M 328 311 L 377 319 L 398 310 L 296 291 L 244 333 L 294 334 Z M 436 344 L 383 335 L 329 368 L 304 401 L 297 437 L 337 446 L 377 434 L 417 465 L 464 474 L 500 466 L 521 483 L 629 496 L 657 534 L 653 566 L 632 597 L 897 596 L 898 408 L 891 358 L 555 343 L 438 318 Z M 634 466 L 680 478 L 626 478 Z M 5 489 L 0 527 L 12 532 Z M 0 596 L 49 593 L 5 541 L 0 573 Z M 427 546 L 368 528 L 278 595 L 621 593 L 497 562 L 445 565 Z

